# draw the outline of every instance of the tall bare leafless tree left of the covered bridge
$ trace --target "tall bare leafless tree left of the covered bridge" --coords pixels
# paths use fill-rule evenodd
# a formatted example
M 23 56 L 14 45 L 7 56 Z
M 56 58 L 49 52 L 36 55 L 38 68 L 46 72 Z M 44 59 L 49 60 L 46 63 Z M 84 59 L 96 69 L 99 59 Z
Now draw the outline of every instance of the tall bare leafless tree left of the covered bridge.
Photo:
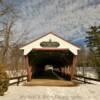
M 25 69 L 19 46 L 23 45 L 22 39 L 24 40 L 31 30 L 27 30 L 26 28 L 22 32 L 17 33 L 14 30 L 15 23 L 19 18 L 17 11 L 15 11 L 16 9 L 14 9 L 12 5 L 5 4 L 4 0 L 0 0 L 0 5 L 3 6 L 3 9 L 0 10 L 0 18 L 5 17 L 5 19 L 0 21 L 0 38 L 3 38 L 1 41 L 2 47 L 0 48 L 0 61 L 6 64 L 7 67 L 9 66 L 8 68 L 12 70 L 11 74 L 14 72 L 13 75 L 15 75 L 15 73 L 17 75 L 19 71 Z M 17 39 L 14 40 L 13 36 L 17 37 Z M 14 41 L 12 42 L 12 40 Z M 22 74 L 24 74 L 24 70 Z

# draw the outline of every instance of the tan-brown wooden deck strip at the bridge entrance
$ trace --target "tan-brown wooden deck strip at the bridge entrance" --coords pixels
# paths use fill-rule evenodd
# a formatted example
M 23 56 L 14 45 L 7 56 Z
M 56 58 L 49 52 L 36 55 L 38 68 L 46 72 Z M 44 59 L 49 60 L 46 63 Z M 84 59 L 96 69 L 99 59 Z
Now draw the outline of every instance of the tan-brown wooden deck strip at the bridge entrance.
M 78 86 L 76 81 L 52 80 L 52 79 L 33 79 L 25 83 L 25 86 Z

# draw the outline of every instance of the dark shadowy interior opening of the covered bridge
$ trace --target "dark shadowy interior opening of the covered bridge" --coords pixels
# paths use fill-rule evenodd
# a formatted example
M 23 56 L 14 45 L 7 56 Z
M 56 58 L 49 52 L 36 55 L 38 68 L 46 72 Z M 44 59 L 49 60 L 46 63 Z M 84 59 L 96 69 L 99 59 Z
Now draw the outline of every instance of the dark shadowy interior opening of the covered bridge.
M 52 72 L 45 70 L 46 65 L 51 65 L 53 71 L 61 77 L 70 75 L 73 54 L 69 50 L 33 50 L 28 58 L 32 67 L 32 78 L 52 78 Z

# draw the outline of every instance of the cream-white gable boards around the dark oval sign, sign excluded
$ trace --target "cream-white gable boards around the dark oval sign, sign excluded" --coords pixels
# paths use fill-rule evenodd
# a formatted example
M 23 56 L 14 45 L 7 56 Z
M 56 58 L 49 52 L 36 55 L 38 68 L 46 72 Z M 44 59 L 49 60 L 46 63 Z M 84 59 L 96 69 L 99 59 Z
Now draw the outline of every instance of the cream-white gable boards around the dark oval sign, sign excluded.
M 32 42 L 24 45 L 20 49 L 24 50 L 24 55 L 27 55 L 32 49 L 43 49 L 44 47 L 41 47 L 40 43 L 42 41 L 49 41 L 50 39 L 52 39 L 53 41 L 59 42 L 60 46 L 56 47 L 56 48 L 49 47 L 48 49 L 69 49 L 74 55 L 77 55 L 78 50 L 80 50 L 80 48 L 78 46 L 70 43 L 67 40 L 64 40 L 62 37 L 60 37 L 57 34 L 54 34 L 52 32 L 49 32 L 48 34 L 43 35 L 43 36 L 33 40 Z M 46 49 L 47 49 L 47 47 L 46 47 Z

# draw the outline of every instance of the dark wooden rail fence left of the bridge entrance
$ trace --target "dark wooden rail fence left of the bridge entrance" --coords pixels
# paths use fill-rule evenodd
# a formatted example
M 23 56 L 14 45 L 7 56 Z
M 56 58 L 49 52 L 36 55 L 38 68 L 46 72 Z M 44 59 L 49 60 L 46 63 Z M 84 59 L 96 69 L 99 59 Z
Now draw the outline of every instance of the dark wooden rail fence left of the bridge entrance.
M 27 80 L 27 75 L 18 76 L 18 77 L 12 77 L 12 78 L 10 78 L 9 80 L 10 80 L 10 81 L 11 81 L 11 80 L 15 80 L 14 82 L 9 83 L 9 85 L 14 85 L 14 84 L 16 84 L 16 85 L 18 86 L 21 82 Z

